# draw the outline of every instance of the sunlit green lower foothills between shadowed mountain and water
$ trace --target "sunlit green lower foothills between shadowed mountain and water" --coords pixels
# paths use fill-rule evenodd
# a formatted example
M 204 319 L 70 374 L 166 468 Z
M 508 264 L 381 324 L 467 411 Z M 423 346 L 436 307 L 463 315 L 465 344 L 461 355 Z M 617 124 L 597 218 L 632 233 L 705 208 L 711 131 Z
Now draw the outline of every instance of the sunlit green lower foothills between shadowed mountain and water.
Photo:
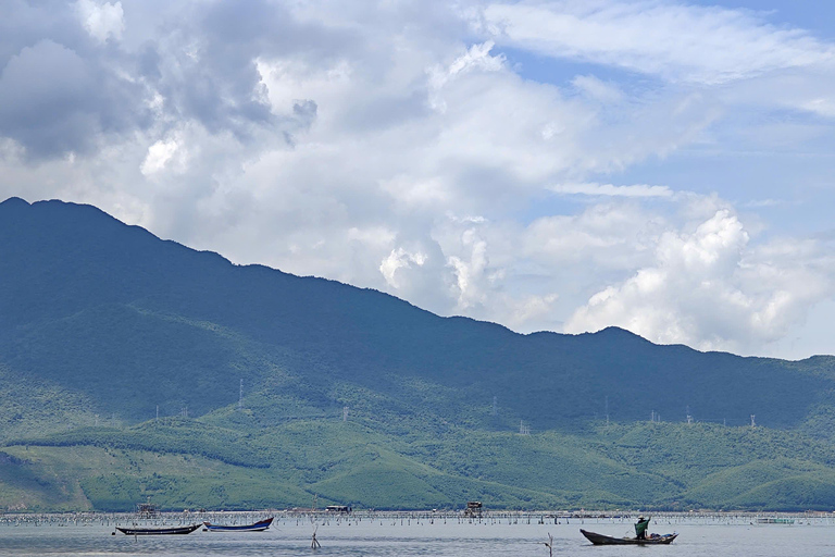
M 698 443 L 694 443 L 698 440 Z M 242 433 L 190 419 L 10 442 L 0 506 L 827 510 L 835 455 L 801 434 L 703 424 L 389 435 L 340 420 Z

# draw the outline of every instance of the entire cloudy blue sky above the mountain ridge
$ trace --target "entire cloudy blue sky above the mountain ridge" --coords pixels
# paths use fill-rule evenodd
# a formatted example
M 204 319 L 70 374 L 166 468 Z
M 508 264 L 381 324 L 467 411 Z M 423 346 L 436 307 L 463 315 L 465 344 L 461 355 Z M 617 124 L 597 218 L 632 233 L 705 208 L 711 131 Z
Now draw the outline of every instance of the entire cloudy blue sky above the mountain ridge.
M 835 354 L 835 7 L 5 0 L 0 199 L 520 333 Z

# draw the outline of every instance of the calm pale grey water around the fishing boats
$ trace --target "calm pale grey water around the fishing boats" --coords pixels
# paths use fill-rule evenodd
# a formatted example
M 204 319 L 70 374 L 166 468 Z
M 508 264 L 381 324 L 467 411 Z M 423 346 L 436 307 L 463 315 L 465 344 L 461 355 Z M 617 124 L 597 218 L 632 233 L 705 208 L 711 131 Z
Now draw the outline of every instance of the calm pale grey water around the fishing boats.
M 832 557 L 835 556 L 835 524 L 735 524 L 653 521 L 650 530 L 676 531 L 670 546 L 593 546 L 579 533 L 586 530 L 624 535 L 628 521 L 585 520 L 583 524 L 470 523 L 450 520 L 325 521 L 316 527 L 322 544 L 310 548 L 313 525 L 303 520 L 276 518 L 266 532 L 214 533 L 198 530 L 189 535 L 111 535 L 112 525 L 5 524 L 0 527 L 0 556 L 518 556 L 548 557 L 543 542 L 553 536 L 553 555 L 581 557 L 656 556 L 675 557 Z

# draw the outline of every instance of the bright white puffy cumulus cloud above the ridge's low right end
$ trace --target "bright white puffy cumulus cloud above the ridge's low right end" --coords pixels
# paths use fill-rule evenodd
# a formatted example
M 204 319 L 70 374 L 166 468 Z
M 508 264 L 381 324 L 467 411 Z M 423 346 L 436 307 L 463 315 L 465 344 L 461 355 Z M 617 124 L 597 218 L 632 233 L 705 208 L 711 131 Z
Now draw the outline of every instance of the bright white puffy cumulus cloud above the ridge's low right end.
M 591 296 L 565 330 L 615 324 L 658 343 L 701 349 L 750 350 L 773 342 L 831 292 L 831 280 L 796 252 L 775 267 L 762 257 L 774 247 L 756 250 L 749 242 L 728 210 L 693 232 L 669 231 L 659 238 L 653 264 Z M 786 265 L 789 260 L 794 264 Z

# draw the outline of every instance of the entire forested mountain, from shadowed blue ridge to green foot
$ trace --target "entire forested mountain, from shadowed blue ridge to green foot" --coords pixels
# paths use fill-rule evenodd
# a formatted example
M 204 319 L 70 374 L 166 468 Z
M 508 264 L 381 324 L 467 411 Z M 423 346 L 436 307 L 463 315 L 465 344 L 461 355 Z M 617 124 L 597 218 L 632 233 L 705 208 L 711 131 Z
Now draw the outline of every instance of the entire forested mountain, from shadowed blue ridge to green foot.
M 60 201 L 0 203 L 0 510 L 835 503 L 831 356 L 520 335 Z

